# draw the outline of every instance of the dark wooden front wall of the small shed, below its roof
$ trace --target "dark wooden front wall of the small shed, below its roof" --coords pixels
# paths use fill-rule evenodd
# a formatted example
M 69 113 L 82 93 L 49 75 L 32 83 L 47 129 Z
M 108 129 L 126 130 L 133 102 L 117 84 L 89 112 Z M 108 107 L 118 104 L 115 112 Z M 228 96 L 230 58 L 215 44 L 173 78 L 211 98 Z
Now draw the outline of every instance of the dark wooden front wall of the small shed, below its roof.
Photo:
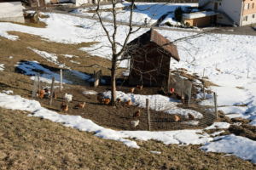
M 147 54 L 147 57 L 140 55 L 152 48 L 156 48 L 154 43 L 138 51 L 137 55 L 131 59 L 130 85 L 162 86 L 163 81 L 168 83 L 170 56 L 163 55 L 157 50 Z M 159 71 L 153 71 L 156 66 L 158 66 Z M 142 75 L 140 70 L 148 71 L 148 73 Z

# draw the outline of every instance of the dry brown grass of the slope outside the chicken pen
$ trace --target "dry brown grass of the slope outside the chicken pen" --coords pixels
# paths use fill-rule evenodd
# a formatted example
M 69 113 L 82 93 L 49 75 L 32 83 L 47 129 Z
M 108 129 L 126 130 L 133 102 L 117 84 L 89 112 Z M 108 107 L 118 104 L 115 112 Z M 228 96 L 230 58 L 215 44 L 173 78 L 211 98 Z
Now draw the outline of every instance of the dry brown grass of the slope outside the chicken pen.
M 101 62 L 97 57 L 84 58 L 77 48 L 90 44 L 67 45 L 42 42 L 37 36 L 11 32 L 20 37 L 18 41 L 0 37 L 0 90 L 14 90 L 26 99 L 31 99 L 32 80 L 15 72 L 16 62 L 22 59 L 38 60 L 39 63 L 56 67 L 32 52 L 31 48 L 55 54 L 79 55 L 84 63 Z M 72 52 L 72 53 L 71 53 Z M 13 59 L 9 59 L 9 56 Z M 58 55 L 67 66 L 64 56 Z M 61 58 L 62 57 L 62 58 Z M 65 60 L 66 59 L 66 60 Z M 107 65 L 107 64 L 106 64 Z M 76 69 L 79 70 L 80 68 Z M 82 70 L 84 71 L 84 70 Z M 92 70 L 86 70 L 91 72 Z M 108 74 L 108 71 L 106 71 Z M 23 111 L 0 108 L 0 168 L 66 168 L 77 169 L 253 169 L 250 161 L 242 161 L 236 156 L 223 157 L 223 153 L 205 153 L 199 145 L 179 147 L 177 144 L 162 144 L 150 140 L 137 141 L 141 149 L 127 148 L 124 144 L 108 139 L 99 139 L 92 133 L 79 132 L 71 127 L 38 117 L 28 117 Z M 151 150 L 161 151 L 154 155 Z

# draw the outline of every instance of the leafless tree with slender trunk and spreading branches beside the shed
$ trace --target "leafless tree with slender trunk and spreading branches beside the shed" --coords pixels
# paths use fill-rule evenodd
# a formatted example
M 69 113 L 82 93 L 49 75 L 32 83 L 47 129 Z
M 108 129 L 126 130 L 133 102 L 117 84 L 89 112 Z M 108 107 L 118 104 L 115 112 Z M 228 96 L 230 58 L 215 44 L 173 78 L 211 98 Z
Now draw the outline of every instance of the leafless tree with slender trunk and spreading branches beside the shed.
M 135 34 L 137 31 L 139 31 L 142 27 L 145 27 L 143 25 L 137 25 L 133 23 L 133 14 L 134 14 L 134 10 L 135 10 L 135 3 L 136 0 L 131 0 L 131 6 L 130 6 L 130 18 L 129 18 L 129 23 L 127 23 L 127 26 L 129 27 L 128 31 L 126 32 L 125 35 L 125 41 L 124 42 L 119 42 L 117 40 L 117 31 L 118 31 L 118 27 L 119 27 L 119 23 L 117 20 L 117 15 L 124 13 L 124 11 L 119 11 L 117 10 L 116 6 L 119 3 L 119 0 L 112 0 L 111 1 L 111 5 L 112 5 L 112 9 L 108 10 L 108 14 L 110 14 L 113 17 L 113 25 L 112 25 L 112 29 L 108 29 L 108 26 L 106 26 L 106 23 L 104 23 L 104 17 L 102 17 L 102 8 L 101 8 L 101 3 L 100 1 L 97 1 L 96 7 L 92 7 L 92 10 L 95 12 L 95 14 L 93 14 L 93 17 L 97 16 L 98 18 L 98 22 L 100 22 L 102 29 L 103 29 L 103 34 L 104 36 L 108 37 L 108 42 L 110 42 L 110 48 L 112 49 L 112 54 L 111 56 L 109 56 L 109 59 L 111 60 L 111 67 L 104 67 L 108 70 L 111 71 L 111 98 L 112 98 L 112 103 L 114 104 L 114 102 L 116 101 L 116 71 L 119 69 L 118 64 L 120 61 L 123 61 L 125 59 L 131 59 L 132 56 L 137 55 L 136 53 L 132 54 L 132 51 L 137 51 L 137 48 L 141 48 L 139 44 L 135 43 L 132 45 L 128 45 L 129 39 L 131 37 L 132 34 Z M 170 1 L 169 3 L 172 3 L 172 1 Z M 166 5 L 168 3 L 162 4 L 163 6 Z M 152 18 L 151 20 L 153 20 L 154 16 L 157 14 L 156 11 L 160 8 L 157 6 L 150 6 L 148 8 L 145 8 L 145 10 L 150 10 L 150 8 L 154 8 L 154 10 L 151 11 L 152 13 Z M 151 20 L 148 20 L 148 22 L 150 22 Z M 165 50 L 163 50 L 162 48 L 165 46 L 168 46 L 170 44 L 177 44 L 178 42 L 189 42 L 190 39 L 194 39 L 197 37 L 202 37 L 204 35 L 206 35 L 207 33 L 209 33 L 211 31 L 203 31 L 201 33 L 195 33 L 189 37 L 182 37 L 182 38 L 178 38 L 176 40 L 173 40 L 171 42 L 166 42 L 162 45 L 160 45 L 158 48 L 152 48 L 152 49 L 148 49 L 148 50 L 144 50 L 141 51 L 140 56 L 147 56 L 147 54 L 153 52 L 154 50 L 158 50 L 160 53 L 164 54 L 166 53 Z M 193 45 L 193 44 L 191 44 Z M 102 47 L 100 47 L 102 48 Z M 98 48 L 94 49 L 97 50 Z M 133 49 L 133 50 L 131 50 Z M 160 59 L 164 59 L 163 57 Z M 140 60 L 140 59 L 138 59 Z M 139 67 L 137 68 L 133 68 L 137 70 L 137 74 L 141 75 L 141 77 L 145 77 L 145 75 L 150 74 L 150 72 L 156 72 L 157 74 L 161 74 L 160 72 L 160 67 L 161 65 L 155 65 L 154 61 L 151 62 L 154 65 L 154 69 L 152 70 L 148 70 L 148 71 L 143 71 L 142 69 L 140 69 Z M 97 64 L 95 64 L 97 65 Z M 90 65 L 92 66 L 92 65 Z M 102 65 L 99 65 L 102 66 Z M 102 66 L 103 67 L 103 66 Z M 151 79 L 150 79 L 151 81 Z M 156 80 L 155 80 L 156 81 Z

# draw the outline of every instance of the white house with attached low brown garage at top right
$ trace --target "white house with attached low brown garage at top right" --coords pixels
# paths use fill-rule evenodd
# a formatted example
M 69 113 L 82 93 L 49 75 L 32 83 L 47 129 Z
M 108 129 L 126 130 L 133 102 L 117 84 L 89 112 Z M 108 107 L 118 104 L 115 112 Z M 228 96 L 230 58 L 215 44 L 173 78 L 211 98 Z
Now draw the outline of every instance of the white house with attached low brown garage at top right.
M 190 26 L 247 26 L 256 23 L 256 0 L 199 0 L 203 11 L 183 14 Z

